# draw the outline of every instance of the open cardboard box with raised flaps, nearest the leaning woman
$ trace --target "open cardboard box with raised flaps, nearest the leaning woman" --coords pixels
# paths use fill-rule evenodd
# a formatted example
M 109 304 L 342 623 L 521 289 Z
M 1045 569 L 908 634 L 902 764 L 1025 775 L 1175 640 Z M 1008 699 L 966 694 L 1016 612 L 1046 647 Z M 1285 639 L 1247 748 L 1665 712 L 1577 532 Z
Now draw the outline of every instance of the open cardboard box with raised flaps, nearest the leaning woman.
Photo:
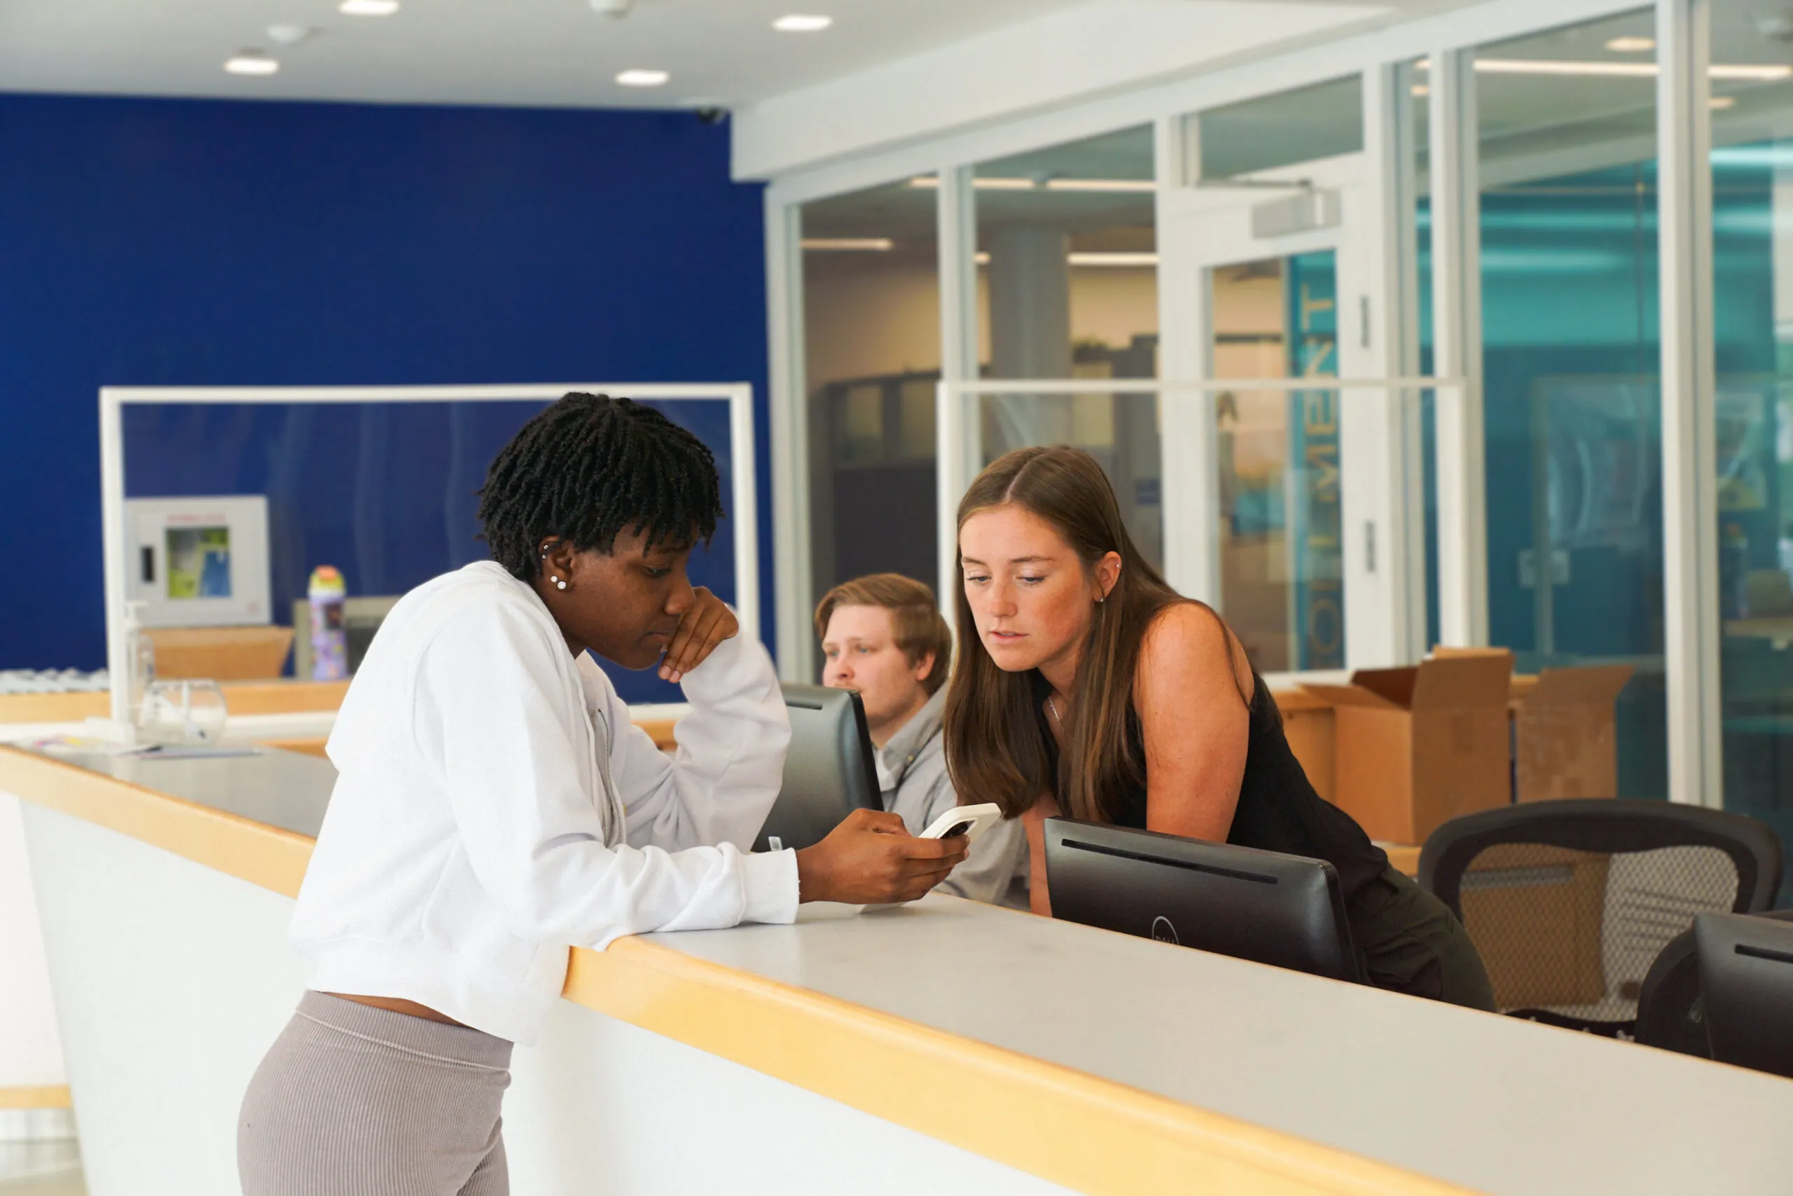
M 1332 705 L 1332 802 L 1390 843 L 1511 800 L 1508 653 L 1366 669 L 1350 685 L 1305 685 Z

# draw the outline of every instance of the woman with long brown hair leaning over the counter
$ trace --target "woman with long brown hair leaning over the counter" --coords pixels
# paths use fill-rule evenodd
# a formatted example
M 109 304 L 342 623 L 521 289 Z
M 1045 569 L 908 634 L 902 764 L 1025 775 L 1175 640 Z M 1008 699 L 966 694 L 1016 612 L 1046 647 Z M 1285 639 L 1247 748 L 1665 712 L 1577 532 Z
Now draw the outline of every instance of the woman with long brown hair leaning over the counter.
M 1463 925 L 1314 793 L 1237 637 L 1146 561 L 1087 452 L 986 468 L 959 502 L 959 565 L 947 764 L 965 800 L 1027 828 L 1035 913 L 1060 812 L 1309 855 L 1339 873 L 1370 983 L 1494 1008 Z

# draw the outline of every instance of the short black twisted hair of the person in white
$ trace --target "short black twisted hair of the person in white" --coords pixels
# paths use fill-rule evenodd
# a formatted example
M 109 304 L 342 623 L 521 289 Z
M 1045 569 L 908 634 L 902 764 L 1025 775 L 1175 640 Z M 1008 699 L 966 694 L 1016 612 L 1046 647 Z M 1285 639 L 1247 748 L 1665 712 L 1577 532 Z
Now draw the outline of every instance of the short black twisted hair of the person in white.
M 529 581 L 540 543 L 610 552 L 624 529 L 647 547 L 708 542 L 723 516 L 715 457 L 696 436 L 628 398 L 572 393 L 498 450 L 479 491 L 491 559 Z

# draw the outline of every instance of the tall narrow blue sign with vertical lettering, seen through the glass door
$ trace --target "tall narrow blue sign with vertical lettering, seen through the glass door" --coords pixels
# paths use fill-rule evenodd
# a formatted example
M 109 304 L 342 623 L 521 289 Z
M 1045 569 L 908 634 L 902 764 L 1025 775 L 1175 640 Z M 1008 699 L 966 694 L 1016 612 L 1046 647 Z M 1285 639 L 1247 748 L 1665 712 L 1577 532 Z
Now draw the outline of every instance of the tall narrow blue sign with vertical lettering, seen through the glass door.
M 1287 258 L 1289 377 L 1338 377 L 1332 251 Z M 1345 667 L 1338 391 L 1289 394 L 1289 624 L 1296 669 Z

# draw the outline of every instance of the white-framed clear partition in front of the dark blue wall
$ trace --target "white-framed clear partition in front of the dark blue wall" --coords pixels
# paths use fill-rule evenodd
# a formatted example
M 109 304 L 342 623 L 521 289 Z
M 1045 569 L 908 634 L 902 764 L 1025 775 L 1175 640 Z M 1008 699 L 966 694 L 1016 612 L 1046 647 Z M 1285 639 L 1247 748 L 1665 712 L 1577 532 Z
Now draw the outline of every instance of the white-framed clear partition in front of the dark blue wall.
M 590 386 L 590 384 L 588 384 Z M 310 680 L 308 577 L 346 590 L 350 672 L 409 590 L 488 559 L 491 459 L 568 386 L 147 387 L 100 393 L 108 651 L 124 717 L 124 608 L 152 629 L 264 628 L 267 676 Z M 593 387 L 595 389 L 595 387 Z M 758 617 L 753 398 L 746 386 L 620 384 L 710 448 L 723 518 L 692 585 Z M 287 631 L 287 629 L 292 631 Z M 282 635 L 285 633 L 285 635 Z M 289 654 L 289 646 L 292 653 Z M 599 658 L 631 703 L 678 685 Z M 179 674 L 174 674 L 179 676 Z

